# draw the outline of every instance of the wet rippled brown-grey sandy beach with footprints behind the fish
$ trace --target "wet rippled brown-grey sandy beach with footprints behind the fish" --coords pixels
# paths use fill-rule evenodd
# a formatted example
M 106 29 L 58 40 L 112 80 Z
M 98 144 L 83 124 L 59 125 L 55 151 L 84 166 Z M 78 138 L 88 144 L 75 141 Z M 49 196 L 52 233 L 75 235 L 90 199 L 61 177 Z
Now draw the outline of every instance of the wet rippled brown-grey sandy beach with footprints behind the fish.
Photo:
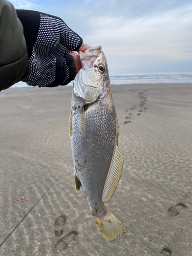
M 112 243 L 75 191 L 71 92 L 0 93 L 0 255 L 191 256 L 192 84 L 112 86 L 124 167 L 106 205 L 127 228 Z

